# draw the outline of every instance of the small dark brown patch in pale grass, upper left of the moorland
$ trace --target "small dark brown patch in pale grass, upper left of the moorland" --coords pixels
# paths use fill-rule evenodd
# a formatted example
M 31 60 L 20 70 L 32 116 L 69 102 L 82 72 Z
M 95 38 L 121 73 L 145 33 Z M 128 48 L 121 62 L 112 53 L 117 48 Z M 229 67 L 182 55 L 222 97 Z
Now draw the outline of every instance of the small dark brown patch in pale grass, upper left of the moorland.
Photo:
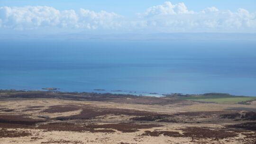
M 68 111 L 75 111 L 79 110 L 80 108 L 73 105 L 67 105 L 67 106 L 51 106 L 48 109 L 45 109 L 42 112 L 46 113 L 62 113 L 62 112 L 68 112 Z

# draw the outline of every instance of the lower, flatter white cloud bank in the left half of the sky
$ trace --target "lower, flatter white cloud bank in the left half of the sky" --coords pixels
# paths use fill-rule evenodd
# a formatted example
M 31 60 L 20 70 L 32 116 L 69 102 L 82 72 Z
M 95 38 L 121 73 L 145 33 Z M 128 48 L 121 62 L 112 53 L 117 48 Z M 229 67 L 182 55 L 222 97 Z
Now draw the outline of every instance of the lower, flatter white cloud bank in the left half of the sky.
M 18 30 L 38 27 L 69 27 L 91 29 L 99 26 L 111 27 L 120 16 L 106 11 L 94 12 L 88 9 L 60 11 L 46 6 L 1 7 L 1 27 Z M 117 21 L 118 22 L 118 21 Z

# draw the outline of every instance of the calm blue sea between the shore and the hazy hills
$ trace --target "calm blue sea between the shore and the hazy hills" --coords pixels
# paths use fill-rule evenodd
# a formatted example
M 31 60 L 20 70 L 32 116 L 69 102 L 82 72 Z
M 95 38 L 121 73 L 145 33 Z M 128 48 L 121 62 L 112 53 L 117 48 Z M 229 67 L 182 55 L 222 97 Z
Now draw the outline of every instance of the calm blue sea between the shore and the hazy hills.
M 0 89 L 256 96 L 253 41 L 0 41 Z

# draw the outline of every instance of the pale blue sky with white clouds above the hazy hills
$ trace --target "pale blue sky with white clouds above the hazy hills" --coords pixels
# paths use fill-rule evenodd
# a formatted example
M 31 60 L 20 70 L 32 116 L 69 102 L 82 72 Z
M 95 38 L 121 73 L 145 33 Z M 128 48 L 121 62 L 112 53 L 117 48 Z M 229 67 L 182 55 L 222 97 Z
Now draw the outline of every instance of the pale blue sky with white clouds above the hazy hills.
M 0 34 L 256 32 L 256 0 L 0 0 Z

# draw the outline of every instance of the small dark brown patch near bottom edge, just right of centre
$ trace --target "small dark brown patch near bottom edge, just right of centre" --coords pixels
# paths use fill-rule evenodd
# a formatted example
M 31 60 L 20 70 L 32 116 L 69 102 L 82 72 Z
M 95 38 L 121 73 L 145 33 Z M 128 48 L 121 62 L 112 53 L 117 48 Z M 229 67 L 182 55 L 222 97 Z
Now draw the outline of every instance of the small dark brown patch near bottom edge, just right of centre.
M 171 137 L 182 137 L 182 135 L 179 132 L 172 132 L 172 131 L 145 131 L 143 136 L 160 136 L 160 135 L 165 135 L 165 136 L 171 136 Z

